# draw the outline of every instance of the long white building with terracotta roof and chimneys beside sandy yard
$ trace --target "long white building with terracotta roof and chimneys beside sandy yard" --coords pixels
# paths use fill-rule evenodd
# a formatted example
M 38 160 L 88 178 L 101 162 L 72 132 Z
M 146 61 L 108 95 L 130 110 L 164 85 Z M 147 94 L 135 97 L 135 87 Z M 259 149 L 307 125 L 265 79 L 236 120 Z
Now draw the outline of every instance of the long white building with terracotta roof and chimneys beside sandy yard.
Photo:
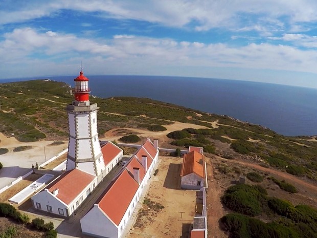
M 121 237 L 158 159 L 157 141 L 153 144 L 147 139 L 116 181 L 80 220 L 82 232 L 95 237 Z

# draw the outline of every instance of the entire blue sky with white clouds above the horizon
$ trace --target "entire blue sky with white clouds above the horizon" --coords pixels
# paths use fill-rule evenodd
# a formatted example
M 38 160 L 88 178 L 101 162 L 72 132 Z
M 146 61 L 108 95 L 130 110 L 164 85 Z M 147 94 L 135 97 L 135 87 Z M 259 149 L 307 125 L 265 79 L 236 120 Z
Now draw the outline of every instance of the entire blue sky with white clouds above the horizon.
M 0 0 L 0 79 L 238 79 L 317 88 L 315 0 Z

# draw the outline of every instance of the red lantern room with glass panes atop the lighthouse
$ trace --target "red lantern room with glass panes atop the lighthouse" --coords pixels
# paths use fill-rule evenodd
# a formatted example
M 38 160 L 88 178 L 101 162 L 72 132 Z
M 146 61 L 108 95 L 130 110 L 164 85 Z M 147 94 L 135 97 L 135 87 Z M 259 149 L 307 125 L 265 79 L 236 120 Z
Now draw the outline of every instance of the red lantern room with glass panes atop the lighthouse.
M 75 88 L 73 93 L 75 95 L 75 101 L 84 102 L 89 101 L 90 89 L 88 87 L 89 79 L 83 75 L 83 72 L 80 71 L 80 75 L 74 79 Z

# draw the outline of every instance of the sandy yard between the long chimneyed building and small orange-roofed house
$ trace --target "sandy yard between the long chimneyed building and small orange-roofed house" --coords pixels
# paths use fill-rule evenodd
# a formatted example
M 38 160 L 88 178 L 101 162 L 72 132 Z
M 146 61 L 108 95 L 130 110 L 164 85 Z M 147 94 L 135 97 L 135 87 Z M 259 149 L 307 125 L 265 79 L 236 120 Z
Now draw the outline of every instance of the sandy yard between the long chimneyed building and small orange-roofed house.
M 160 157 L 159 172 L 153 177 L 146 198 L 161 204 L 161 211 L 143 204 L 128 238 L 188 237 L 195 216 L 196 191 L 180 189 L 182 158 Z

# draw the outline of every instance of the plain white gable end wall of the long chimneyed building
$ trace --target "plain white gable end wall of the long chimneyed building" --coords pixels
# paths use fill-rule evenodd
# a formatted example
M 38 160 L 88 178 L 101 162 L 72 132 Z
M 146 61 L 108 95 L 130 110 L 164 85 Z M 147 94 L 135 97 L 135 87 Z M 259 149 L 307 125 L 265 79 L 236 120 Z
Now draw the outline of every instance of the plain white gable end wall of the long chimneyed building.
M 84 234 L 118 238 L 118 227 L 112 223 L 97 204 L 82 219 L 81 231 Z

